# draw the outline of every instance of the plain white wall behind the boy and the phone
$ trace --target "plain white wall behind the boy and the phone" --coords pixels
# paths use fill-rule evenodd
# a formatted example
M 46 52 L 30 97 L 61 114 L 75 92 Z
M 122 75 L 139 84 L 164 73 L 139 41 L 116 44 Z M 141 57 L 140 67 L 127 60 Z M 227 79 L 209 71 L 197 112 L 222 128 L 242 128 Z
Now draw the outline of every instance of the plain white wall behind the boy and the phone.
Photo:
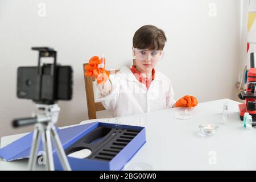
M 46 16 L 39 16 L 40 3 Z M 211 5 L 216 16 L 210 16 Z M 144 24 L 166 32 L 164 60 L 157 69 L 171 78 L 176 99 L 184 94 L 199 102 L 236 99 L 240 19 L 240 0 L 1 0 L 0 137 L 32 129 L 10 126 L 11 119 L 35 109 L 32 101 L 15 96 L 17 67 L 36 65 L 38 52 L 32 46 L 57 49 L 57 61 L 74 69 L 73 100 L 59 102 L 58 126 L 71 125 L 88 118 L 82 63 L 103 51 L 106 68 L 130 66 L 133 34 Z M 105 111 L 99 115 L 109 117 Z

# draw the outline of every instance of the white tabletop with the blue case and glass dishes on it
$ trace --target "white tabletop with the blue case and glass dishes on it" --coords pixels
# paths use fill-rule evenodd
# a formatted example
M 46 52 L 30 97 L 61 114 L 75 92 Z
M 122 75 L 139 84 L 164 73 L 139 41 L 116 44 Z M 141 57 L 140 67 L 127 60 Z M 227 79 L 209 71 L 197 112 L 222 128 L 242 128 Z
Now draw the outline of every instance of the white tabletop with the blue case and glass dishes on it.
M 225 101 L 228 102 L 229 110 L 226 125 L 222 123 Z M 129 116 L 142 118 L 147 142 L 124 169 L 255 170 L 256 129 L 243 129 L 238 104 L 228 99 L 203 102 L 189 110 L 193 118 L 187 120 L 175 118 L 176 111 L 182 109 L 180 107 Z M 85 122 L 88 121 L 81 123 Z M 202 137 L 199 134 L 201 123 L 213 123 L 219 129 L 211 137 Z M 3 137 L 1 147 L 23 135 Z M 26 170 L 27 160 L 0 160 L 0 169 Z M 38 169 L 43 169 L 43 166 L 38 166 Z

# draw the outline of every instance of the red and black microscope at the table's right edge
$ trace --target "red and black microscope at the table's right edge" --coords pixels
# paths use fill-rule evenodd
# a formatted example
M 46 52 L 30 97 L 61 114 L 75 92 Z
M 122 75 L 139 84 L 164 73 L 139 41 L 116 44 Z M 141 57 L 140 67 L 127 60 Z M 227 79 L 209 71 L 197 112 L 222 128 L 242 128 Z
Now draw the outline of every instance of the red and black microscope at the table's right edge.
M 238 97 L 241 100 L 245 100 L 244 104 L 239 104 L 239 113 L 240 118 L 243 120 L 243 115 L 245 113 L 249 113 L 253 118 L 253 121 L 256 121 L 256 93 L 255 93 L 255 85 L 256 85 L 256 68 L 255 68 L 255 52 L 250 53 L 250 69 L 247 73 L 247 82 L 246 89 L 243 90 Z M 256 126 L 253 123 L 253 126 Z

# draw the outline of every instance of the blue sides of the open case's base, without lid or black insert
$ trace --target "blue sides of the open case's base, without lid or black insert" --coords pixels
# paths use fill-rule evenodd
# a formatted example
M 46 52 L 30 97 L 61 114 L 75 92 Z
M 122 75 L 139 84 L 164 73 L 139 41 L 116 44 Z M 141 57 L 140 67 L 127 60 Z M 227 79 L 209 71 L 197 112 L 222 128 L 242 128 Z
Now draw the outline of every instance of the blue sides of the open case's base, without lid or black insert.
M 146 142 L 146 133 L 144 127 L 138 126 L 127 126 L 127 125 L 114 125 L 111 123 L 100 123 L 96 122 L 94 125 L 88 127 L 88 129 L 82 131 L 76 137 L 74 137 L 68 144 L 65 144 L 64 150 L 66 150 L 72 143 L 77 142 L 80 138 L 84 137 L 90 131 L 96 129 L 99 126 L 112 127 L 125 130 L 139 130 L 139 133 L 118 152 L 110 161 L 102 161 L 96 159 L 77 159 L 68 157 L 68 162 L 72 170 L 121 170 L 123 166 L 135 155 L 135 153 L 143 146 Z M 103 138 L 104 139 L 104 138 Z M 59 159 L 57 158 L 56 151 L 53 152 L 55 168 L 62 170 Z

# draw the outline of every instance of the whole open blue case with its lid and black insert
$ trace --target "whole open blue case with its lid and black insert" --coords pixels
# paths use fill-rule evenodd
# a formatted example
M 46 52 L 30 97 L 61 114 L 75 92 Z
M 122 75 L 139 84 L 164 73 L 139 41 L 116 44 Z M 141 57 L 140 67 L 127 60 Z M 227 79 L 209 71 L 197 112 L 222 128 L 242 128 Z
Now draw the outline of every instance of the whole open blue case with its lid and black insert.
M 113 123 L 88 123 L 57 129 L 57 133 L 66 155 L 83 148 L 92 151 L 92 154 L 84 159 L 68 156 L 72 170 L 121 170 L 146 142 L 144 127 Z M 33 133 L 29 133 L 1 148 L 0 157 L 6 161 L 29 158 L 32 135 Z M 63 170 L 53 145 L 52 148 L 55 169 Z M 42 142 L 39 151 L 43 151 Z

